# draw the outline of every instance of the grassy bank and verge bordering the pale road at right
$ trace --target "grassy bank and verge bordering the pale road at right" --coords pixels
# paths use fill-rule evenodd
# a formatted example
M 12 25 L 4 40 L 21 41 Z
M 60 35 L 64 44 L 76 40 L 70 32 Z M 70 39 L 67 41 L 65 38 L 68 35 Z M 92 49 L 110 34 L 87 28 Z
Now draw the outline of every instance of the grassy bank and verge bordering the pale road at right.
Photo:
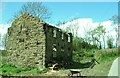
M 100 62 L 92 69 L 83 69 L 82 74 L 86 76 L 107 76 L 113 61 L 119 57 L 117 48 L 95 51 L 95 58 Z

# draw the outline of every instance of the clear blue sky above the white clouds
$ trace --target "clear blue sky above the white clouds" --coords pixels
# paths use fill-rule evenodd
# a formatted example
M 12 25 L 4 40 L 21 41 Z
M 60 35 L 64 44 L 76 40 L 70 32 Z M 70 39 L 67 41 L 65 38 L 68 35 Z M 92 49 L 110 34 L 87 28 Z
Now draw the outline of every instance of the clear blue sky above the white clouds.
M 3 2 L 2 20 L 7 24 L 25 2 Z M 94 22 L 103 22 L 117 15 L 117 2 L 44 2 L 52 13 L 50 23 L 69 21 L 73 18 L 92 18 Z M 113 11 L 114 10 L 114 11 Z

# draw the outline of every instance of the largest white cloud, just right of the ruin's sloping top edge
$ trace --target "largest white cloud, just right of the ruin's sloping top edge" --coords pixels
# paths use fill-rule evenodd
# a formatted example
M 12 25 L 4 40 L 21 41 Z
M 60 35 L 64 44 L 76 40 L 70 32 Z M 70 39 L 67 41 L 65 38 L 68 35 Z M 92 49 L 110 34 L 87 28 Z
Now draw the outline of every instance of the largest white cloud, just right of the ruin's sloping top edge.
M 66 30 L 71 25 L 79 26 L 78 31 L 76 31 L 78 32 L 78 36 L 85 37 L 85 32 L 94 29 L 98 24 L 94 23 L 92 18 L 79 18 L 61 25 L 60 28 Z

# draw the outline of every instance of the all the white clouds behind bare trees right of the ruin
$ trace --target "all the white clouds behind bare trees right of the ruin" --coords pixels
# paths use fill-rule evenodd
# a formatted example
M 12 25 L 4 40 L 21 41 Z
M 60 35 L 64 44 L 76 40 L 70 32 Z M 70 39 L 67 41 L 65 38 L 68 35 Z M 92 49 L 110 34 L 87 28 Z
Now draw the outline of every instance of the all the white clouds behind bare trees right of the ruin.
M 84 38 L 86 31 L 93 30 L 94 28 L 99 26 L 99 24 L 103 25 L 104 28 L 106 28 L 107 33 L 106 33 L 105 39 L 107 39 L 107 36 L 112 36 L 114 38 L 114 44 L 115 44 L 116 42 L 115 41 L 116 31 L 114 30 L 115 25 L 113 25 L 112 21 L 110 20 L 100 23 L 100 22 L 93 22 L 92 18 L 79 18 L 79 19 L 67 22 L 64 25 L 61 25 L 60 28 L 66 30 L 66 28 L 71 25 L 73 25 L 73 28 L 75 28 L 75 26 L 79 26 L 78 31 L 76 31 L 78 32 L 77 36 Z M 100 41 L 102 41 L 102 38 L 100 39 Z

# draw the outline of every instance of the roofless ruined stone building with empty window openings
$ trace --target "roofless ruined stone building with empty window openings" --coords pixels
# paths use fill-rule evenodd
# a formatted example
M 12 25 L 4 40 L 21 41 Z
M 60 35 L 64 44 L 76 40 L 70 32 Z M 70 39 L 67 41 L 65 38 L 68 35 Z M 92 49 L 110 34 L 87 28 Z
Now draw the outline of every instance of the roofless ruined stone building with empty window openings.
M 7 51 L 9 62 L 17 67 L 41 68 L 54 62 L 70 64 L 72 34 L 26 13 L 8 28 Z

